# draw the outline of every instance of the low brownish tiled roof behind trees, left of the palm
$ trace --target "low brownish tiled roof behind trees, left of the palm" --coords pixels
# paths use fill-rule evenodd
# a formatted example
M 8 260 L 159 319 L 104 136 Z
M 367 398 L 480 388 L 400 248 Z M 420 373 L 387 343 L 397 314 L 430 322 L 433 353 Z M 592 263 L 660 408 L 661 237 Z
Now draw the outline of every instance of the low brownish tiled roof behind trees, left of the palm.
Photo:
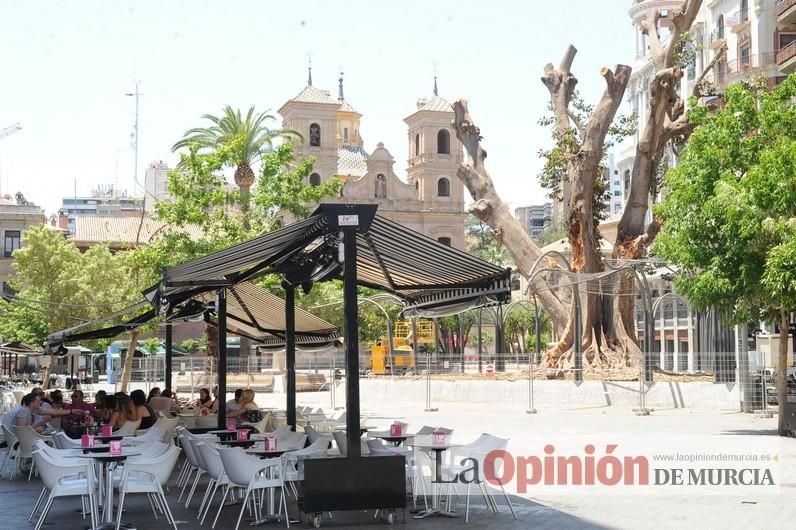
M 75 218 L 75 233 L 70 239 L 76 243 L 109 243 L 111 246 L 132 246 L 135 244 L 140 222 L 141 218 L 137 215 L 130 217 L 78 215 Z M 141 235 L 138 238 L 140 244 L 151 241 L 165 224 L 163 221 L 145 217 L 141 226 Z M 192 237 L 202 237 L 199 227 L 187 227 L 186 231 Z

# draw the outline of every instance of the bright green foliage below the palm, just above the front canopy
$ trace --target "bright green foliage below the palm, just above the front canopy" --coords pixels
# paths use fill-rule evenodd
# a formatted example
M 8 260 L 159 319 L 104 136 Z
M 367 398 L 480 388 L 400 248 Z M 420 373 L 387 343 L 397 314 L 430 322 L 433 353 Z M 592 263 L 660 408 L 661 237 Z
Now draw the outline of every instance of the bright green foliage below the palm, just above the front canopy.
M 244 199 L 250 201 L 249 208 L 242 208 L 240 195 L 227 185 L 223 174 L 238 150 L 231 141 L 206 153 L 199 153 L 192 144 L 187 153 L 181 153 L 180 169 L 169 175 L 167 189 L 172 198 L 155 205 L 155 218 L 166 226 L 153 241 L 129 255 L 142 288 L 157 282 L 164 267 L 268 232 L 280 226 L 283 213 L 306 217 L 308 203 L 337 194 L 336 179 L 316 187 L 303 184 L 313 161 L 296 165 L 292 147 L 284 144 L 263 156 L 256 189 Z

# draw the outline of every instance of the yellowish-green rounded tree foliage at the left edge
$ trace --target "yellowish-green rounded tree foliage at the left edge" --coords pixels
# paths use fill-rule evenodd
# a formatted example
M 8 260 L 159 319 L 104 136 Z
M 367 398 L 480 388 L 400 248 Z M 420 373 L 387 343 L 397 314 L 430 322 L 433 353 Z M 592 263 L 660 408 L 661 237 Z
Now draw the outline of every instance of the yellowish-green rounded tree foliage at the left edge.
M 122 254 L 105 245 L 82 253 L 44 226 L 25 230 L 13 254 L 16 298 L 0 302 L 0 335 L 42 344 L 47 335 L 123 309 L 141 294 L 129 282 Z

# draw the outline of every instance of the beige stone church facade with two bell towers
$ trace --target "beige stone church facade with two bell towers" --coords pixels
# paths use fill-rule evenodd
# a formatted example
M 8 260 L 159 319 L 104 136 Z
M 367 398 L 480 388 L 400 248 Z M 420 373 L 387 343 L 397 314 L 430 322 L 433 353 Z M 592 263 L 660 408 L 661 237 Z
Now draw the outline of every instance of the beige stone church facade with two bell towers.
M 345 203 L 378 204 L 379 214 L 446 245 L 464 250 L 464 186 L 456 177 L 463 149 L 453 132 L 453 109 L 437 93 L 417 101 L 404 119 L 409 138 L 407 176 L 395 174 L 394 159 L 379 142 L 367 152 L 360 136 L 362 115 L 343 97 L 312 84 L 279 109 L 285 128 L 304 136 L 295 146 L 299 158 L 315 157 L 307 185 L 330 178 L 343 180 Z

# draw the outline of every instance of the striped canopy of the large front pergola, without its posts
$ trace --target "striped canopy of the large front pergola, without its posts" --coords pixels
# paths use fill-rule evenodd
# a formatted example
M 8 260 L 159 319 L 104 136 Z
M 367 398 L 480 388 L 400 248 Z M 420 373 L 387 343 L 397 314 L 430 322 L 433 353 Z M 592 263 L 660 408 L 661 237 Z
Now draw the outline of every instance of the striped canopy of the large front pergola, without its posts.
M 407 309 L 511 296 L 504 269 L 376 215 L 376 205 L 322 204 L 305 220 L 166 270 L 162 306 L 267 273 L 293 285 L 342 278 L 340 227 L 356 223 L 357 281 L 400 297 Z M 232 298 L 230 298 L 232 299 Z

